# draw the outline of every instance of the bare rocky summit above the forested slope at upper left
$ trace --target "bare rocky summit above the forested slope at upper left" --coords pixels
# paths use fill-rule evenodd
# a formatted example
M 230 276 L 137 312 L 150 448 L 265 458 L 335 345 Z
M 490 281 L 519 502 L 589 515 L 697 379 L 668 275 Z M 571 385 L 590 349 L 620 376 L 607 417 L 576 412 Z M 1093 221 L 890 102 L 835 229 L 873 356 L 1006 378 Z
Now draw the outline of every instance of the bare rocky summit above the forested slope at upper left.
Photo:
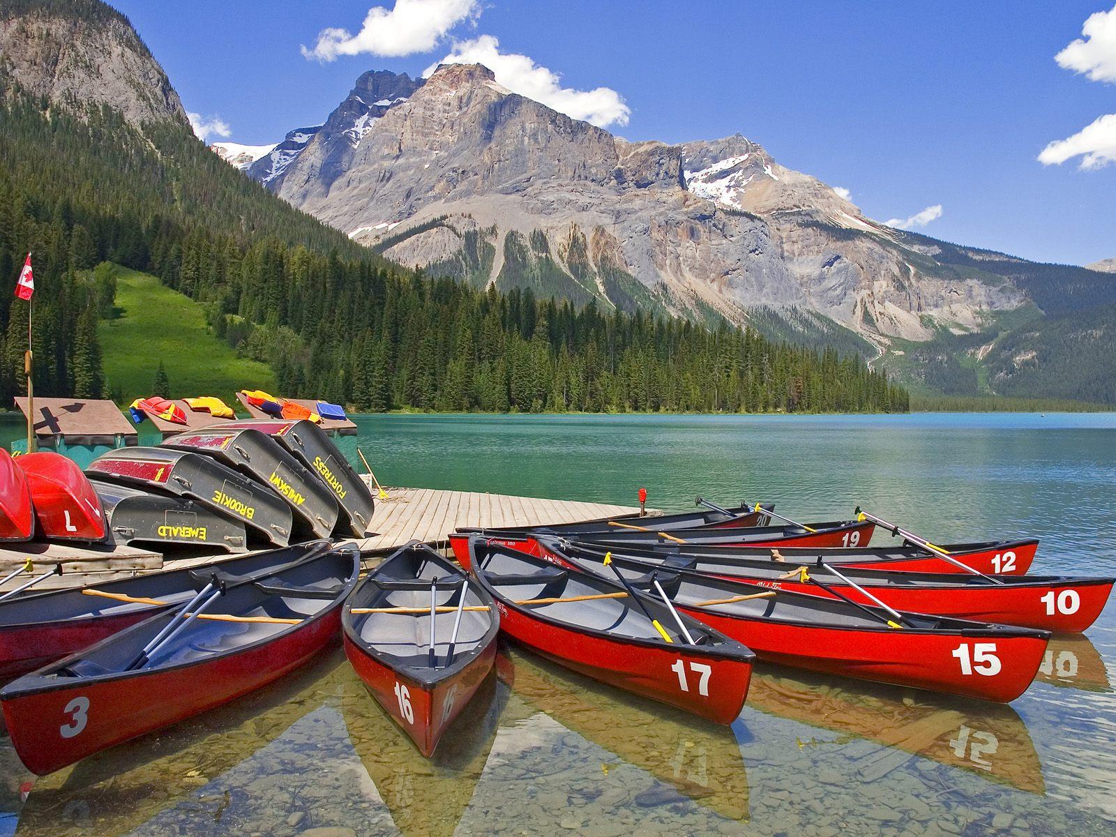
M 52 105 L 108 105 L 133 125 L 186 113 L 119 12 L 90 0 L 0 3 L 0 74 Z

